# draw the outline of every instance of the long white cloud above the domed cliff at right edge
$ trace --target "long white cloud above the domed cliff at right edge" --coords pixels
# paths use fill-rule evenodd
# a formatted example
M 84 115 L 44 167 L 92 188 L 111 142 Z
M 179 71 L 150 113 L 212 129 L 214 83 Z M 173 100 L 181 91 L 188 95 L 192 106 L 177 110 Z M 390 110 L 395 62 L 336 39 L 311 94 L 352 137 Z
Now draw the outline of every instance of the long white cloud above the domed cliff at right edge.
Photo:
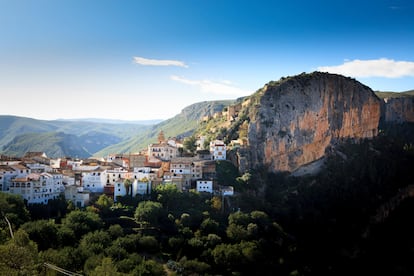
M 345 61 L 337 66 L 321 66 L 318 71 L 341 74 L 350 77 L 414 77 L 414 62 L 393 59 L 371 59 Z

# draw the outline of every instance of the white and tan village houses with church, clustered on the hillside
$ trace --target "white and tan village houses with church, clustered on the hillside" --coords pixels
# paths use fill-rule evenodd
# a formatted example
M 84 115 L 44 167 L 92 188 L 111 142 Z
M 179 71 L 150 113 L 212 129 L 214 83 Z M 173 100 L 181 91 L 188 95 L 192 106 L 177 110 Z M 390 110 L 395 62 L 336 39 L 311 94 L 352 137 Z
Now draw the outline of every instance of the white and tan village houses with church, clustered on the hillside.
M 148 145 L 146 152 L 113 154 L 105 159 L 48 158 L 29 152 L 22 158 L 0 156 L 0 191 L 18 194 L 28 204 L 46 204 L 61 194 L 78 207 L 88 205 L 91 193 L 119 196 L 151 193 L 157 185 L 172 183 L 183 191 L 232 195 L 232 187 L 215 185 L 216 160 L 226 160 L 223 141 L 202 149 L 198 141 L 195 156 L 183 156 L 183 144 L 175 138 Z

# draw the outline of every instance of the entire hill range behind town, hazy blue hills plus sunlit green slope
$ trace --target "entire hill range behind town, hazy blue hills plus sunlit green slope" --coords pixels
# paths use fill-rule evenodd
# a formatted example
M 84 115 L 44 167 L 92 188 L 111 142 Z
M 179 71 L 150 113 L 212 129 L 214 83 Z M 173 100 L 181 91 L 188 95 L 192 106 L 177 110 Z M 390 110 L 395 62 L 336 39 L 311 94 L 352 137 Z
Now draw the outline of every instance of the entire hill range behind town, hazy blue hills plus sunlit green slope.
M 28 151 L 49 157 L 103 157 L 109 153 L 139 152 L 156 142 L 162 130 L 166 137 L 185 137 L 202 117 L 213 115 L 236 100 L 192 104 L 165 121 L 120 121 L 105 119 L 36 120 L 0 115 L 0 153 L 23 156 Z

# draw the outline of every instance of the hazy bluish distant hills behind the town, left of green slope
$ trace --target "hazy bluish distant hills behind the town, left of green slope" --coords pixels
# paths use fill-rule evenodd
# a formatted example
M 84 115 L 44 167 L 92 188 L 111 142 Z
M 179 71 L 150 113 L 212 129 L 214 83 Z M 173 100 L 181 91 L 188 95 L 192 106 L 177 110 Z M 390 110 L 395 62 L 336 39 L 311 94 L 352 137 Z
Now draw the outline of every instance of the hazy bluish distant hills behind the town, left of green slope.
M 60 154 L 88 157 L 150 127 L 133 123 L 46 121 L 0 116 L 0 153 L 21 156 L 27 151 L 44 151 L 51 157 L 60 157 Z

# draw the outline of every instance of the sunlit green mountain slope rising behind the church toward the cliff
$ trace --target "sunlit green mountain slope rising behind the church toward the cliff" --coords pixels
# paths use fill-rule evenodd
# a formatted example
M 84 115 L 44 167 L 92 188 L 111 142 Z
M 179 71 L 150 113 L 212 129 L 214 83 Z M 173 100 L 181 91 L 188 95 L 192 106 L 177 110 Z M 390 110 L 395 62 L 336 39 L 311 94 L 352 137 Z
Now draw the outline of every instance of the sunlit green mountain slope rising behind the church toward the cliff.
M 123 140 L 119 144 L 96 152 L 94 156 L 105 156 L 108 153 L 138 152 L 145 149 L 148 144 L 155 143 L 161 130 L 164 132 L 165 137 L 190 136 L 204 116 L 212 116 L 214 113 L 221 112 L 226 106 L 234 104 L 236 101 L 205 101 L 192 104 L 185 107 L 180 114 L 173 118 L 156 124 L 139 135 Z

